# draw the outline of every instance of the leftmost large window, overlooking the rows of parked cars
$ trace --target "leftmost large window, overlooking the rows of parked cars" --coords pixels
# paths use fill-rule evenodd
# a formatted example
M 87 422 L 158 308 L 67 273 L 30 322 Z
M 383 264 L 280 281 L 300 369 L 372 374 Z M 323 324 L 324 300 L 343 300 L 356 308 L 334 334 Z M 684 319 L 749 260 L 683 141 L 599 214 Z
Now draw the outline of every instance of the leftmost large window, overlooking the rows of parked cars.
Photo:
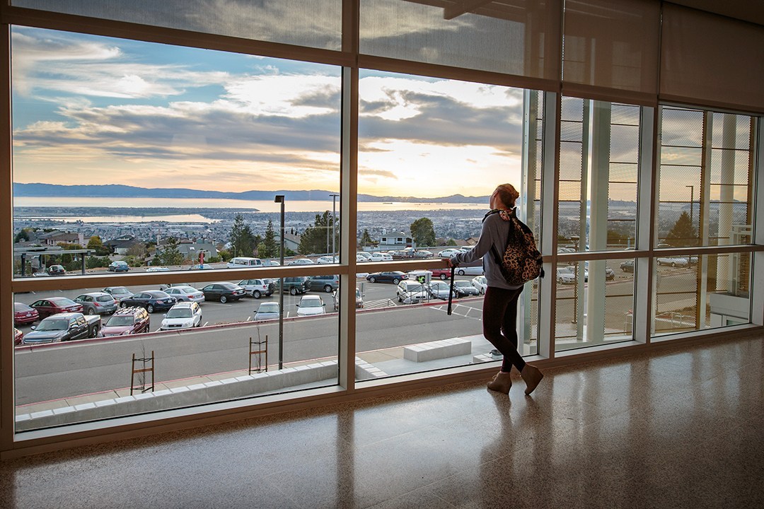
M 66 422 L 336 384 L 339 277 L 319 266 L 340 248 L 340 70 L 33 28 L 12 37 L 15 276 L 44 282 L 15 301 L 119 331 L 46 335 L 46 317 L 19 315 L 19 416 L 111 404 L 99 402 L 125 396 L 133 353 L 156 366 L 161 404 Z M 164 279 L 180 271 L 189 278 Z M 102 283 L 62 289 L 83 274 Z M 138 317 L 110 296 L 145 323 L 125 325 Z M 249 360 L 269 375 L 252 382 L 247 353 L 261 350 L 267 360 Z M 220 380 L 230 391 L 212 388 Z M 58 422 L 37 417 L 22 427 Z

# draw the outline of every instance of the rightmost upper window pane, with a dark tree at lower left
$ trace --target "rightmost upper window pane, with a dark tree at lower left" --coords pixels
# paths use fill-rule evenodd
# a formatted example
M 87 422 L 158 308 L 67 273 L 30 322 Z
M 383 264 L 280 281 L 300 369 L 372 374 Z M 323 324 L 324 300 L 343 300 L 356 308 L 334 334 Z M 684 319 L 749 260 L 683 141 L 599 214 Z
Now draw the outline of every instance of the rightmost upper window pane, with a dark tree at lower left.
M 752 242 L 753 118 L 661 108 L 657 246 Z

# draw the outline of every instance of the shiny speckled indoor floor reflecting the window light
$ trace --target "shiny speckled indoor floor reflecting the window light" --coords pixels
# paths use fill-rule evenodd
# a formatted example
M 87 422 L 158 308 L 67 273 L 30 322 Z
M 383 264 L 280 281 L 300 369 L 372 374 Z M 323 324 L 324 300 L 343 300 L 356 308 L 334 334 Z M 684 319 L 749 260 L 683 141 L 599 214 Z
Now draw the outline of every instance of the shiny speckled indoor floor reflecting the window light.
M 0 507 L 764 507 L 764 338 L 0 463 Z

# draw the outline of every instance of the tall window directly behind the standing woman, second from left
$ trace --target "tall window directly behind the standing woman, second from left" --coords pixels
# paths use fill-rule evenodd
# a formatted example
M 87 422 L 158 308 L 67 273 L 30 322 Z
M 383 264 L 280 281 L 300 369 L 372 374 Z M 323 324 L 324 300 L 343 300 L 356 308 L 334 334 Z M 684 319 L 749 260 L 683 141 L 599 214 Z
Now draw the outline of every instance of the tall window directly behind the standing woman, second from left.
M 359 362 L 381 376 L 496 360 L 481 327 L 482 260 L 458 267 L 451 316 L 449 271 L 439 260 L 474 246 L 503 182 L 519 190 L 520 217 L 539 237 L 543 95 L 371 71 L 361 73 L 360 92 Z M 417 259 L 432 265 L 405 265 Z M 400 261 L 400 270 L 377 270 L 374 261 Z M 521 302 L 528 355 L 538 351 L 536 284 Z

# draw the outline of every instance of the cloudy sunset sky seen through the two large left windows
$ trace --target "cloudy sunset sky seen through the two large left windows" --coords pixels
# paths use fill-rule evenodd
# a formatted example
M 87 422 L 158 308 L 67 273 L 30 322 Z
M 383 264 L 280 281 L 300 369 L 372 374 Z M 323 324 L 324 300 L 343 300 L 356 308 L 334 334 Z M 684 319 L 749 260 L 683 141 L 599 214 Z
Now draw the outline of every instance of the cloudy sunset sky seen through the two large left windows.
M 339 188 L 340 72 L 15 27 L 14 182 Z M 358 191 L 520 182 L 522 91 L 362 72 Z

